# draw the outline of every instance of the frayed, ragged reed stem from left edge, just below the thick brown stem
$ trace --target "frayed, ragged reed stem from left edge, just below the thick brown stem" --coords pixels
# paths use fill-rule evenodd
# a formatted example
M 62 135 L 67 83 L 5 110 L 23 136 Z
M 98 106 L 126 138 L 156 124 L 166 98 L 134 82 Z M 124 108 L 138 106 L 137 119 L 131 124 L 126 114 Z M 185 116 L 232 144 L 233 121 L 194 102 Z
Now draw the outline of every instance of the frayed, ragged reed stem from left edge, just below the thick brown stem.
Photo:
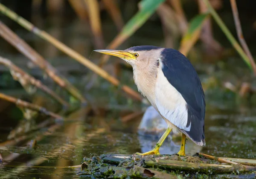
M 12 61 L 10 61 L 9 59 L 3 58 L 3 57 L 0 56 L 0 64 L 3 64 L 6 67 L 8 67 L 11 73 L 12 73 L 12 71 L 14 71 L 15 73 L 18 73 L 19 77 L 17 77 L 17 78 L 20 78 L 21 80 L 23 80 L 24 83 L 29 82 L 30 84 L 34 85 L 35 87 L 37 87 L 37 88 L 43 90 L 44 92 L 48 93 L 49 95 L 51 95 L 53 98 L 55 98 L 62 105 L 69 106 L 69 104 L 66 101 L 64 101 L 61 97 L 59 97 L 58 94 L 56 94 L 54 91 L 52 91 L 47 86 L 42 84 L 41 81 L 35 79 L 34 77 L 29 75 L 28 73 L 24 72 L 18 66 L 13 64 Z M 16 80 L 20 81 L 19 79 L 16 79 Z M 20 81 L 20 83 L 22 83 L 22 82 Z

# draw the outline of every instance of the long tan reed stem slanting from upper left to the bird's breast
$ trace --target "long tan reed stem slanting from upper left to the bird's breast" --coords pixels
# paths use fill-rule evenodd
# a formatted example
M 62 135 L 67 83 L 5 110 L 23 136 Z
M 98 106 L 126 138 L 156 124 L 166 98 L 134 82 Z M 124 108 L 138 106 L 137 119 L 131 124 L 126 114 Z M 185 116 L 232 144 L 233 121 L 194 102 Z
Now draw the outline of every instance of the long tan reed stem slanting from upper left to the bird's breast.
M 20 26 L 23 26 L 28 31 L 33 32 L 35 35 L 38 35 L 42 39 L 47 40 L 49 43 L 52 43 L 52 45 L 54 45 L 56 48 L 58 48 L 59 50 L 61 50 L 64 53 L 66 53 L 71 58 L 74 58 L 76 61 L 83 64 L 84 66 L 87 66 L 87 68 L 91 69 L 93 72 L 97 73 L 102 78 L 105 78 L 113 85 L 115 85 L 115 86 L 120 85 L 120 82 L 113 76 L 109 75 L 108 72 L 106 72 L 104 69 L 102 69 L 99 66 L 97 66 L 96 64 L 92 63 L 87 58 L 84 58 L 82 55 L 80 55 L 78 52 L 74 51 L 73 49 L 69 48 L 64 43 L 61 43 L 57 39 L 53 38 L 47 32 L 38 29 L 32 23 L 25 20 L 23 17 L 18 16 L 15 12 L 6 8 L 6 6 L 3 6 L 3 4 L 1 4 L 1 3 L 0 3 L 0 12 L 5 14 L 7 17 L 11 18 L 18 24 L 20 24 Z M 130 87 L 128 87 L 126 85 L 122 85 L 122 90 L 125 91 L 126 93 L 128 93 L 129 95 L 133 96 L 135 99 L 137 99 L 139 101 L 142 100 L 142 96 L 138 92 L 132 90 Z

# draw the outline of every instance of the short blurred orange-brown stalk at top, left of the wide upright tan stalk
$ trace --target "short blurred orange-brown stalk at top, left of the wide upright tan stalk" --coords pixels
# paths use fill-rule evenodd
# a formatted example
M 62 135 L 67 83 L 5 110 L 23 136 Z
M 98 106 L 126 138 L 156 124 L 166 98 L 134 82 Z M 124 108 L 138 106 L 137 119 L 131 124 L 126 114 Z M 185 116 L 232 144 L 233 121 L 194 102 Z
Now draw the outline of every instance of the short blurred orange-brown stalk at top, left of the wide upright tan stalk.
M 86 7 L 84 5 L 83 0 L 69 0 L 70 5 L 75 10 L 76 14 L 81 20 L 86 20 L 88 17 L 88 14 L 86 12 Z

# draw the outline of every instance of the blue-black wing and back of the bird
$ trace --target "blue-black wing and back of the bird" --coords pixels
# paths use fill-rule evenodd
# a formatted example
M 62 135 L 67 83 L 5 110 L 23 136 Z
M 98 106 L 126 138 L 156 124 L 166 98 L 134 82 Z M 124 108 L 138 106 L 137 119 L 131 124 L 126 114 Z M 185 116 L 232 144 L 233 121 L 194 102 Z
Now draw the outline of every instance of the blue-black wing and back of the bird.
M 182 130 L 196 144 L 205 145 L 204 90 L 200 79 L 190 61 L 175 49 L 164 49 L 162 52 L 163 74 L 170 84 L 176 88 L 187 103 L 188 122 L 190 131 Z

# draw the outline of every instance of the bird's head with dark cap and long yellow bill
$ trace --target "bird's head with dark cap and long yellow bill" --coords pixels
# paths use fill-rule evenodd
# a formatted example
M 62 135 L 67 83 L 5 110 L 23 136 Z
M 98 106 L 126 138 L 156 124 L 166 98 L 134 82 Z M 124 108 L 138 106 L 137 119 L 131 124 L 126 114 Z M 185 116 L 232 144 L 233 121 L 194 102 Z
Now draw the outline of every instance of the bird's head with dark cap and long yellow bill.
M 162 48 L 157 46 L 133 46 L 125 50 L 94 50 L 107 55 L 119 57 L 132 67 L 143 68 L 149 62 L 156 62 L 160 58 Z M 151 63 L 152 64 L 152 63 Z

